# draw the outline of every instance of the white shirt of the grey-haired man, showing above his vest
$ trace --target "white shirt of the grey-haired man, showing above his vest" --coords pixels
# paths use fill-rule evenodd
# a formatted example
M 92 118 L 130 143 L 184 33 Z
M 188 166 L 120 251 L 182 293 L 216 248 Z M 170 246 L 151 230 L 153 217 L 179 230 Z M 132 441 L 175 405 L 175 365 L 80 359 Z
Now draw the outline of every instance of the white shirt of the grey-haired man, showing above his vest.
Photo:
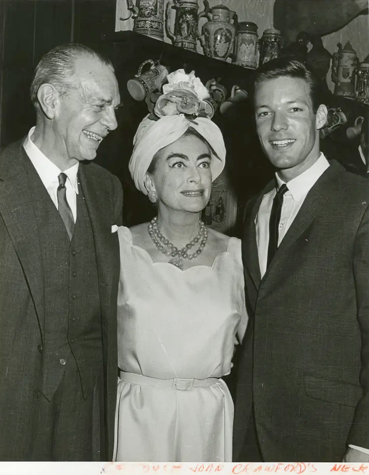
M 23 147 L 26 150 L 26 154 L 32 162 L 32 165 L 35 167 L 36 172 L 41 178 L 41 181 L 43 182 L 50 195 L 50 198 L 53 200 L 53 204 L 57 209 L 57 188 L 59 186 L 58 176 L 61 173 L 61 170 L 59 167 L 53 164 L 53 162 L 32 142 L 31 136 L 34 132 L 34 129 L 35 128 L 32 127 L 28 132 Z M 65 182 L 67 202 L 72 210 L 75 222 L 77 220 L 78 167 L 79 162 L 63 171 L 63 173 L 65 173 L 67 176 L 67 180 Z

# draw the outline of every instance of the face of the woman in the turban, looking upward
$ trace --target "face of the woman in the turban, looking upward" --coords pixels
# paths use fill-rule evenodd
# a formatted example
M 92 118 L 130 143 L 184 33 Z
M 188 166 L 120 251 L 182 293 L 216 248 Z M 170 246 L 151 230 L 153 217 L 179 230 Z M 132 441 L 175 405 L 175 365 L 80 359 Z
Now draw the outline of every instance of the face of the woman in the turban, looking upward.
M 211 193 L 210 162 L 208 145 L 195 135 L 159 150 L 155 172 L 147 180 L 159 206 L 196 213 L 204 209 Z

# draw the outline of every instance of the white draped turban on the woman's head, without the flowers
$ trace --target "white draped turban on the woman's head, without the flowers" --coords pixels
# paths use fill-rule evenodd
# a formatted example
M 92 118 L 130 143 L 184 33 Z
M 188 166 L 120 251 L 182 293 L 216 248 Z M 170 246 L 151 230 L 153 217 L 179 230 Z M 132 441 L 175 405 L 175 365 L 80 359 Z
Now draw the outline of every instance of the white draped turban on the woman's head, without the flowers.
M 183 136 L 188 127 L 192 127 L 209 143 L 216 156 L 210 162 L 211 176 L 214 180 L 225 165 L 226 148 L 219 127 L 204 117 L 187 119 L 184 114 L 164 116 L 158 120 L 146 116 L 138 126 L 133 139 L 133 152 L 129 170 L 136 188 L 147 195 L 145 175 L 154 155 L 167 145 L 173 144 Z

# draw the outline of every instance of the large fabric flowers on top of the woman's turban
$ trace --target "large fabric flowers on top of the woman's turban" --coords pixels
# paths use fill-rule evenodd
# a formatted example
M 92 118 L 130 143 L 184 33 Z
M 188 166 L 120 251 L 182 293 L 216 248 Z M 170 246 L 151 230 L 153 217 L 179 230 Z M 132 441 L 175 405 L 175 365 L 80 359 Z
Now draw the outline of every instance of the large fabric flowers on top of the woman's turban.
M 199 78 L 191 71 L 185 74 L 184 69 L 178 69 L 167 76 L 168 84 L 163 85 L 163 94 L 158 97 L 154 114 L 158 117 L 185 116 L 206 117 L 209 106 L 204 99 L 209 97 L 209 91 Z

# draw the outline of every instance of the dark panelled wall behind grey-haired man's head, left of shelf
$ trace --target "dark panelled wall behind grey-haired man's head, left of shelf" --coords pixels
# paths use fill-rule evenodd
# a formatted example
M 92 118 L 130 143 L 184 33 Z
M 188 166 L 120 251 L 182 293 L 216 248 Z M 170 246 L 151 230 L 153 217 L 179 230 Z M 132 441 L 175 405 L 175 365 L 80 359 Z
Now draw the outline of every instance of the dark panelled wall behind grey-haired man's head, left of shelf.
M 33 70 L 54 46 L 89 43 L 115 29 L 115 0 L 0 0 L 0 148 L 34 124 Z

